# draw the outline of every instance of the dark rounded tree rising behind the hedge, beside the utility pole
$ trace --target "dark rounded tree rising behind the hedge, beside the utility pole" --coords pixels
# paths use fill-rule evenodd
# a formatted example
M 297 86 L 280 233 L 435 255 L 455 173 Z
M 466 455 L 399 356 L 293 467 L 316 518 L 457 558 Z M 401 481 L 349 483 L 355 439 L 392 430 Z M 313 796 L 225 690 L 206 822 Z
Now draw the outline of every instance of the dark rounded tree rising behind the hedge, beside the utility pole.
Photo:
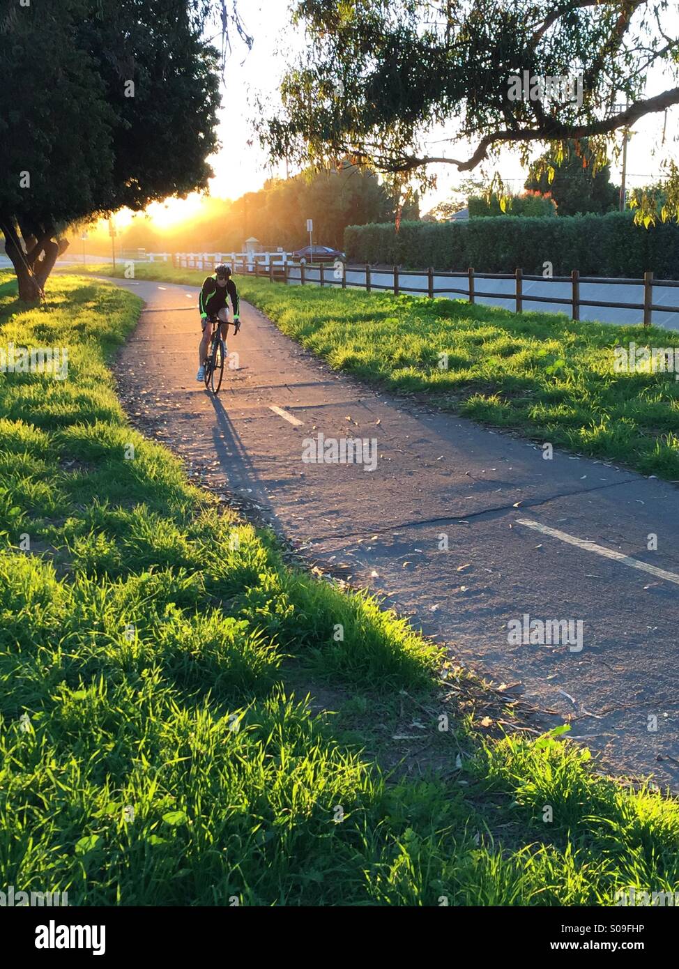
M 598 166 L 587 141 L 568 141 L 563 157 L 552 149 L 545 151 L 531 166 L 525 187 L 549 193 L 559 215 L 602 215 L 614 211 L 620 198 L 619 188 L 610 183 L 610 166 Z

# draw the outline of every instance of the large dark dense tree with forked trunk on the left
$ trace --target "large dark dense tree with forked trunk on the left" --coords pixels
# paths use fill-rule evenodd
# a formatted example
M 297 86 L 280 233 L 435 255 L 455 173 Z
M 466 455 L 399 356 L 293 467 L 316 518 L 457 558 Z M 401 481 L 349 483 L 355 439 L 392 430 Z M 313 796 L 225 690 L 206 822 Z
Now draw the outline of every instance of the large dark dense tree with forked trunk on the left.
M 203 31 L 220 13 L 240 27 L 223 8 L 0 0 L 0 231 L 19 297 L 41 296 L 68 225 L 206 186 L 220 54 Z

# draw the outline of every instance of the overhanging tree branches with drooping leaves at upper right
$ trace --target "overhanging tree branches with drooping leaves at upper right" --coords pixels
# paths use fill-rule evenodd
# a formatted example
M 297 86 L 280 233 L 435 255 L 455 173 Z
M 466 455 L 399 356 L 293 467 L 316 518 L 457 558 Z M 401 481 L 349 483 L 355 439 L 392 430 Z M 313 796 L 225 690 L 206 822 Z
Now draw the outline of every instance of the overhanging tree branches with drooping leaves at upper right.
M 296 0 L 308 43 L 283 78 L 283 110 L 262 109 L 260 137 L 275 160 L 349 154 L 422 184 L 432 163 L 471 172 L 503 145 L 527 163 L 533 144 L 587 138 L 603 162 L 616 132 L 679 104 L 676 11 L 674 0 Z M 646 96 L 663 70 L 666 86 Z M 471 153 L 430 154 L 435 124 Z

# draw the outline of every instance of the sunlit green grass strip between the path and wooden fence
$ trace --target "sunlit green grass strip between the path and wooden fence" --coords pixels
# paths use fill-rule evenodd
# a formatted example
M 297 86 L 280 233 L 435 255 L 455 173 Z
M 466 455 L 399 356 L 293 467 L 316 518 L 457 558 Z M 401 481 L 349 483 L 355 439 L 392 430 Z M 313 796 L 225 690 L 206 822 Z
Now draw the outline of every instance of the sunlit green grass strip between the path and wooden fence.
M 161 265 L 136 272 L 194 285 L 204 275 Z M 337 370 L 427 394 L 444 410 L 555 448 L 679 480 L 679 381 L 613 369 L 616 345 L 679 347 L 675 330 L 245 277 L 238 284 L 242 297 Z

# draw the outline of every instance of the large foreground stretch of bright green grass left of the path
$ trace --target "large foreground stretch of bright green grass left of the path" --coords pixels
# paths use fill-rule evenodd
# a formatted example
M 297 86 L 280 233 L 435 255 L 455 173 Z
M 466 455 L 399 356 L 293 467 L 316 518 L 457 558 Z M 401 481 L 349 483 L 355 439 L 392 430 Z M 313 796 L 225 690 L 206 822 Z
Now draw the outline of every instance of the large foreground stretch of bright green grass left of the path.
M 676 888 L 675 800 L 562 736 L 484 735 L 478 684 L 448 669 L 442 690 L 396 615 L 287 565 L 130 426 L 108 359 L 136 297 L 68 276 L 41 309 L 14 293 L 0 345 L 68 345 L 69 373 L 0 376 L 0 885 L 85 905 Z

